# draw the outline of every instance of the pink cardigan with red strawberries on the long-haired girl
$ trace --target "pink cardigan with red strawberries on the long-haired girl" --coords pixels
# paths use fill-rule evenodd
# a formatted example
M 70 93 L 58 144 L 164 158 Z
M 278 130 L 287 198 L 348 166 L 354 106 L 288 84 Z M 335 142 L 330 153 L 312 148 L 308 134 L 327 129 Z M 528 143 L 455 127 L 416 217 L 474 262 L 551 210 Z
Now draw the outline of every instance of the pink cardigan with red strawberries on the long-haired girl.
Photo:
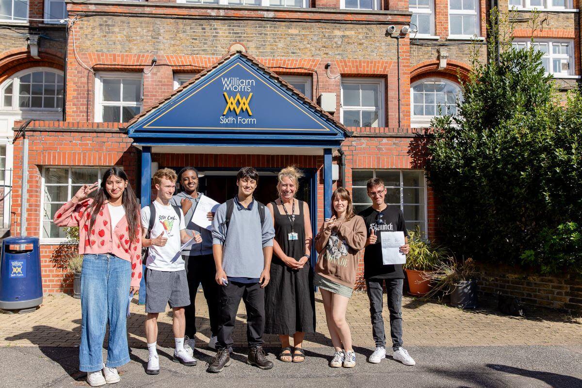
M 111 233 L 111 215 L 107 202 L 95 218 L 93 230 L 89 233 L 91 212 L 86 212 L 93 198 L 62 205 L 55 213 L 57 226 L 79 226 L 79 254 L 111 253 L 132 264 L 132 286 L 139 286 L 141 280 L 141 227 L 137 225 L 138 237 L 135 243 L 130 241 L 127 218 L 123 216 Z M 139 214 L 138 214 L 139 216 Z M 137 218 L 139 219 L 139 217 Z M 112 236 L 113 235 L 113 236 Z

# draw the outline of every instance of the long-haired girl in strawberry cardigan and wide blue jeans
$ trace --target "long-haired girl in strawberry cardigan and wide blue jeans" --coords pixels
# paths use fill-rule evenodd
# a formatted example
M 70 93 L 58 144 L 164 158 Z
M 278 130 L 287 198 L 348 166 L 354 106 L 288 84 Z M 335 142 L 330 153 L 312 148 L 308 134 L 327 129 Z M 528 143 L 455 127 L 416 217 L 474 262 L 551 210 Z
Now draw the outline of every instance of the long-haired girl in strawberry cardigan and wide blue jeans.
M 97 190 L 94 198 L 88 196 Z M 108 169 L 98 183 L 79 188 L 55 213 L 55 225 L 79 226 L 81 345 L 79 369 L 90 386 L 119 382 L 129 362 L 126 309 L 141 280 L 140 207 L 122 169 Z M 101 348 L 109 323 L 107 365 Z

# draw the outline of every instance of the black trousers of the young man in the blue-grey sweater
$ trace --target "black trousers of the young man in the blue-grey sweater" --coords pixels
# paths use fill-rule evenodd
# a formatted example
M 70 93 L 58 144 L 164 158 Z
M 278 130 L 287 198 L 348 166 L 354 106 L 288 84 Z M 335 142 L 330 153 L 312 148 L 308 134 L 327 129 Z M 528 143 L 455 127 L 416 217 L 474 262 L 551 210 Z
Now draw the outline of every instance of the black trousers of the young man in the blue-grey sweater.
M 240 299 L 247 309 L 247 341 L 249 347 L 262 346 L 265 330 L 265 290 L 261 283 L 229 282 L 220 291 L 220 323 L 218 325 L 218 346 L 232 347 L 232 332 L 235 329 L 236 312 Z

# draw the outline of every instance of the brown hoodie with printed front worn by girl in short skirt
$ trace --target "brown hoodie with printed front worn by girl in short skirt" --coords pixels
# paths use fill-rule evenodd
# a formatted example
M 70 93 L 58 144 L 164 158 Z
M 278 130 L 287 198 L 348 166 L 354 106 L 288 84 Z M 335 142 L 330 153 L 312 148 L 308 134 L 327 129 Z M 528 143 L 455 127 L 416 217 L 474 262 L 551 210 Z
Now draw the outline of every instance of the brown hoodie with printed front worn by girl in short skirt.
M 344 286 L 354 288 L 358 268 L 358 252 L 364 249 L 367 238 L 364 219 L 353 216 L 341 222 L 333 232 L 323 230 L 315 236 L 319 253 L 315 273 Z

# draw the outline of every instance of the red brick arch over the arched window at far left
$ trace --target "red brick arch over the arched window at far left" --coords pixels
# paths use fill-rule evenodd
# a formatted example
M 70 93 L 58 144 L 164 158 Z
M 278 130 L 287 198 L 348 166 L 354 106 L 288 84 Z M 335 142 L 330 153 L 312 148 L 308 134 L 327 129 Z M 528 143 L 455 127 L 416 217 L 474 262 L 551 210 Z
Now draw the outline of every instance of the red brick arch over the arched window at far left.
M 12 49 L 0 54 L 0 83 L 20 70 L 31 67 L 52 67 L 57 70 L 65 70 L 65 59 L 58 51 L 40 49 L 40 59 L 30 56 L 27 48 Z

